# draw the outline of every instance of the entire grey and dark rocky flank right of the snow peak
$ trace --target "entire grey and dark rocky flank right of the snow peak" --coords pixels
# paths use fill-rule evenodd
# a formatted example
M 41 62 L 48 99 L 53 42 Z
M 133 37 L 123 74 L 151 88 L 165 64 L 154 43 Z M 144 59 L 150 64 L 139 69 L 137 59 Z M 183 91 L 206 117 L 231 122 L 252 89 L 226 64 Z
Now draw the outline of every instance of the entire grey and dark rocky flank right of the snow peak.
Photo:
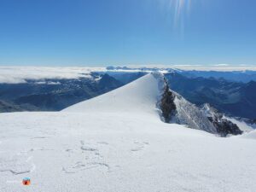
M 160 110 L 166 123 L 188 125 L 189 128 L 207 131 L 221 137 L 242 133 L 236 124 L 224 119 L 224 115 L 218 113 L 216 109 L 207 104 L 203 108 L 196 107 L 183 96 L 170 90 L 166 79 L 161 79 L 161 84 L 163 87 L 161 88 Z

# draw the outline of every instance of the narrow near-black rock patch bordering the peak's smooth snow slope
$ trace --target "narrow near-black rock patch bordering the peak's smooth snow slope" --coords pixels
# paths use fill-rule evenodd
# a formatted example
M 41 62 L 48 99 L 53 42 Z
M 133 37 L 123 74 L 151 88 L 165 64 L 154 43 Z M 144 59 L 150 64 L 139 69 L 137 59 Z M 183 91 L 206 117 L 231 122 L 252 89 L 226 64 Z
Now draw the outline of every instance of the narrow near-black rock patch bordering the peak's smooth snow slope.
M 170 122 L 170 120 L 172 119 L 172 115 L 175 113 L 176 105 L 174 103 L 174 99 L 175 96 L 169 89 L 168 84 L 166 83 L 166 87 L 164 88 L 164 93 L 160 101 L 160 108 L 166 123 Z

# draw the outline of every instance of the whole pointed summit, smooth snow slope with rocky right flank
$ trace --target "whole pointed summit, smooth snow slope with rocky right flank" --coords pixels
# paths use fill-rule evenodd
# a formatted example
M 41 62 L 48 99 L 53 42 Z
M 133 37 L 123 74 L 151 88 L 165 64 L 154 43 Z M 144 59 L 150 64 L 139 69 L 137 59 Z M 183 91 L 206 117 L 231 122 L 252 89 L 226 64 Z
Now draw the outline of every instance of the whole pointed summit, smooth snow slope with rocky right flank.
M 67 113 L 125 113 L 129 116 L 137 113 L 166 123 L 220 133 L 219 126 L 212 123 L 206 111 L 170 90 L 163 73 L 159 72 L 149 73 L 131 84 L 63 110 Z

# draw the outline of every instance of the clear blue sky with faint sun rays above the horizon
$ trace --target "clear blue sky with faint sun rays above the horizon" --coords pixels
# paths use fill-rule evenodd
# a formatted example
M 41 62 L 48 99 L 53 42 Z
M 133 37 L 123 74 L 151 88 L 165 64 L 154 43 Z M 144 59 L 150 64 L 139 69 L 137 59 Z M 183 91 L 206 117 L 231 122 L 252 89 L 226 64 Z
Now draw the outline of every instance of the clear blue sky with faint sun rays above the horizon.
M 1 0 L 0 65 L 256 65 L 255 10 L 254 0 Z

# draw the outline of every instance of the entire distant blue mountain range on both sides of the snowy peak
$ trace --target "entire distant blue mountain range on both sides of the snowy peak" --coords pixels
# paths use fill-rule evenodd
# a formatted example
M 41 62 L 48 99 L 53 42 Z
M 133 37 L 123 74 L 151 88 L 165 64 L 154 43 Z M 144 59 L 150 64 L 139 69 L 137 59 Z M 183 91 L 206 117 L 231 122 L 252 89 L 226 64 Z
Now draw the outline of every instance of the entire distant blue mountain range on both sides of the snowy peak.
M 135 70 L 128 67 L 107 69 L 106 72 L 90 73 L 90 78 L 26 79 L 26 83 L 0 84 L 0 112 L 59 111 L 128 84 L 148 71 L 160 70 L 165 73 L 172 90 L 198 107 L 209 103 L 221 113 L 255 122 L 254 72 L 198 72 L 167 68 Z M 237 79 L 231 80 L 230 77 Z

